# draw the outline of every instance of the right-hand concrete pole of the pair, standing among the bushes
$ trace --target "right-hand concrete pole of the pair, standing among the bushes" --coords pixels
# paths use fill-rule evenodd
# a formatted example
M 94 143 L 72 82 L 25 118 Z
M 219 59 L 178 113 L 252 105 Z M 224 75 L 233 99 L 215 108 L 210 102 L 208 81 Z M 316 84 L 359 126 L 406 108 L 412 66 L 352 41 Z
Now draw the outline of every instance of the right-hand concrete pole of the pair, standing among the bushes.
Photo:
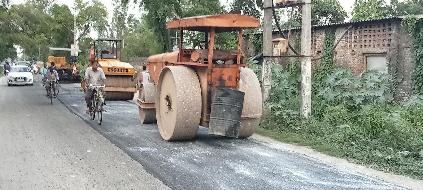
M 301 29 L 301 108 L 302 117 L 311 113 L 311 0 L 304 0 Z

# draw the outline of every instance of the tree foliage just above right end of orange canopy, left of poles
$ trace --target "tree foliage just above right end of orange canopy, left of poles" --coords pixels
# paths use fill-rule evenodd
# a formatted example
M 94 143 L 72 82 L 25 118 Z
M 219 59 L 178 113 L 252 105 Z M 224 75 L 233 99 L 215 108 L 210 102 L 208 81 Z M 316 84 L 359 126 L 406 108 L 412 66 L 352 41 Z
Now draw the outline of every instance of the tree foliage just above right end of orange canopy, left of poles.
M 263 5 L 263 0 L 233 0 L 231 10 L 241 11 L 242 14 L 261 18 Z

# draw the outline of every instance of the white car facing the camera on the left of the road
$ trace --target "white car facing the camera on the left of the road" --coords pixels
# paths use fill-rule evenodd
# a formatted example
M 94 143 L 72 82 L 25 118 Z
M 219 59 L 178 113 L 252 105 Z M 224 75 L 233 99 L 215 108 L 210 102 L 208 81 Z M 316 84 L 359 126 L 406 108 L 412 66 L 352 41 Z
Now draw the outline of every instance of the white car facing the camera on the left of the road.
M 25 65 L 11 66 L 9 72 L 7 73 L 7 85 L 11 86 L 16 84 L 29 84 L 29 85 L 34 84 L 34 77 L 28 66 L 25 66 Z

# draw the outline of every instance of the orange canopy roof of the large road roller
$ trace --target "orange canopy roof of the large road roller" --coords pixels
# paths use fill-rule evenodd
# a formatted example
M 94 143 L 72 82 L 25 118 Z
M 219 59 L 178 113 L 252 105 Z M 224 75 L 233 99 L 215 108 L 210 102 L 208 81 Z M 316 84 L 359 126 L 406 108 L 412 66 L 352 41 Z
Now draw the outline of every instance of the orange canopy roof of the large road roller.
M 216 27 L 216 33 L 260 27 L 260 20 L 241 14 L 217 14 L 192 16 L 168 22 L 168 29 L 180 29 L 208 32 Z

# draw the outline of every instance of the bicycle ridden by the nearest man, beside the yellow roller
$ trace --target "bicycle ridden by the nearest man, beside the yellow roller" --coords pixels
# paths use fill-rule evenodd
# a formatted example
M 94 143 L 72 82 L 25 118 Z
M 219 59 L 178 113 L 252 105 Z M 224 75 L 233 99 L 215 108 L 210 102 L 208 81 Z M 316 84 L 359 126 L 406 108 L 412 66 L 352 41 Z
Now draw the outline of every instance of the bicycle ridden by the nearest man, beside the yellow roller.
M 93 97 L 91 98 L 91 111 L 90 111 L 90 117 L 92 120 L 96 118 L 97 114 L 97 123 L 99 125 L 102 125 L 103 120 L 103 101 L 104 97 L 100 91 L 100 88 L 104 88 L 103 86 L 94 86 L 93 84 L 90 84 L 89 88 L 93 90 Z

